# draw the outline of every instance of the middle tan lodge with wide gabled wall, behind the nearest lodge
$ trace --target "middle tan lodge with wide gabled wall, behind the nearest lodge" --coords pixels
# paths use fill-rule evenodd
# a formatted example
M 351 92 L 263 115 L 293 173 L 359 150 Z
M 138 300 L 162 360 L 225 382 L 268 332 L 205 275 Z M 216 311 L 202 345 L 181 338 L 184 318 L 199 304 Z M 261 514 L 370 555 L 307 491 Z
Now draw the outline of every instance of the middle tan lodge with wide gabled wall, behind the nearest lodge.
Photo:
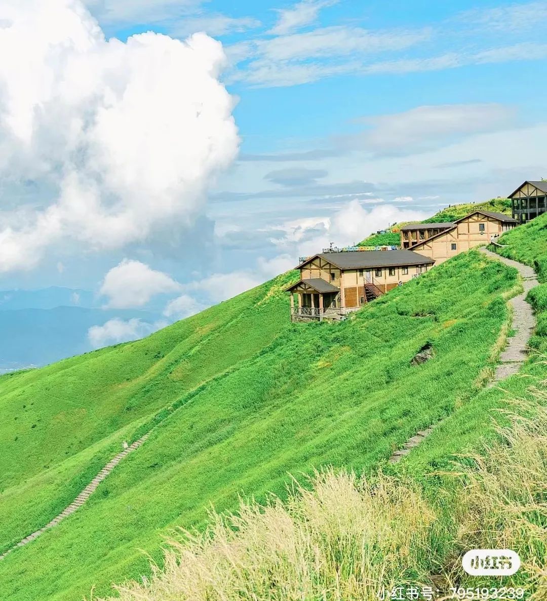
M 432 258 L 438 265 L 474 246 L 488 244 L 494 237 L 500 236 L 516 225 L 518 225 L 516 219 L 509 215 L 477 210 L 457 219 L 450 229 L 415 243 L 410 249 L 424 257 Z

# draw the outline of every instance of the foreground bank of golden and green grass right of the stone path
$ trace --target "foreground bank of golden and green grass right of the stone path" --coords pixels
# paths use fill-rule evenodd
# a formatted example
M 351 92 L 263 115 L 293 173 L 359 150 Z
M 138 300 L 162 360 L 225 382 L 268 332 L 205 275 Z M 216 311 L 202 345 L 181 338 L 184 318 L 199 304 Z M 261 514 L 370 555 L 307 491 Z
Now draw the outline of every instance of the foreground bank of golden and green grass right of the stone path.
M 316 475 L 311 492 L 293 490 L 287 501 L 215 517 L 204 534 L 168 552 L 156 578 L 123 587 L 123 601 L 297 598 L 301 591 L 307 599 L 329 591 L 371 601 L 379 583 L 387 590 L 429 584 L 445 593 L 503 584 L 524 587 L 525 599 L 544 599 L 546 231 L 544 215 L 505 234 L 506 246 L 497 249 L 535 267 L 542 282 L 528 294 L 538 319 L 532 346 L 541 353 L 530 353 L 518 374 L 462 398 L 401 463 L 380 463 L 368 480 L 328 471 Z M 471 548 L 513 549 L 521 569 L 501 581 L 468 576 L 456 560 Z

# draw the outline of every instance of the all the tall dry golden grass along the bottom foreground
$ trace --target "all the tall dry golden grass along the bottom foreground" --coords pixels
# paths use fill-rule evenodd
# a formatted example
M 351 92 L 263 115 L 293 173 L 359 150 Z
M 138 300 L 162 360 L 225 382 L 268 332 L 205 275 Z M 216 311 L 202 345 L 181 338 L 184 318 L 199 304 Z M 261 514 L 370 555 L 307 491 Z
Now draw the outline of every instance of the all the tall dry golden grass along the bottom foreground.
M 509 548 L 522 568 L 503 584 L 545 601 L 547 392 L 531 392 L 536 402 L 515 401 L 497 441 L 461 457 L 427 497 L 381 472 L 371 479 L 317 472 L 311 489 L 295 482 L 287 501 L 242 503 L 237 515 L 213 512 L 206 532 L 183 532 L 170 543 L 163 568 L 117 587 L 119 598 L 372 601 L 382 588 L 405 584 L 475 587 L 477 579 L 462 572 L 462 555 Z M 448 507 L 441 509 L 439 498 L 451 499 Z

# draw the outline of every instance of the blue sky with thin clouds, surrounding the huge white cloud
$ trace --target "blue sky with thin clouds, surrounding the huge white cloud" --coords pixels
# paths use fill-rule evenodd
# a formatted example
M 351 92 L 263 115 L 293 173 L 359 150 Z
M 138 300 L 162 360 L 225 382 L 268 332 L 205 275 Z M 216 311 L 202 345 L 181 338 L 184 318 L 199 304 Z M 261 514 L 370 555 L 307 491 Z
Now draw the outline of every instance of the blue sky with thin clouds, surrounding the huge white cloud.
M 388 223 L 504 196 L 525 178 L 547 176 L 547 41 L 538 33 L 547 25 L 545 1 L 88 0 L 86 8 L 107 39 L 128 48 L 147 31 L 180 40 L 204 31 L 219 40 L 224 66 L 213 79 L 230 94 L 239 142 L 233 132 L 218 139 L 229 150 L 221 167 L 204 170 L 198 209 L 171 229 L 144 228 L 127 243 L 97 250 L 75 242 L 79 234 L 59 234 L 28 265 L 5 269 L 3 288 L 55 284 L 98 293 L 125 259 L 170 276 L 188 296 L 182 305 L 195 310 L 221 299 L 214 279 L 240 282 L 227 287 L 226 297 L 330 240 L 357 242 Z M 184 98 L 195 88 L 194 72 L 165 56 L 173 60 L 173 78 L 181 74 L 175 93 Z M 140 127 L 142 115 L 147 120 L 139 113 L 127 132 Z M 211 135 L 229 125 L 223 115 Z M 165 126 L 160 117 L 153 117 L 156 130 Z M 166 123 L 170 118 L 166 112 Z M 184 136 L 188 124 L 179 125 Z M 190 136 L 187 142 L 191 153 Z M 168 145 L 161 151 L 166 162 L 173 159 Z M 33 172 L 35 165 L 25 168 Z M 58 194 L 51 178 L 22 182 L 0 169 L 4 197 L 19 199 L 12 204 L 25 211 Z M 100 184 L 98 194 L 106 198 Z

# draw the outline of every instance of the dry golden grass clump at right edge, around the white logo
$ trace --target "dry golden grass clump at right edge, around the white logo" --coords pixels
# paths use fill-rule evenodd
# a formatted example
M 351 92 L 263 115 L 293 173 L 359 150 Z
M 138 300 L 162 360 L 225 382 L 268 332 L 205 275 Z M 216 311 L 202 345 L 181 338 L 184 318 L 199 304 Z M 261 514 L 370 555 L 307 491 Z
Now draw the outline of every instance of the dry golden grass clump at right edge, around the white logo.
M 462 469 L 465 486 L 457 495 L 458 543 L 467 549 L 513 549 L 522 560 L 516 578 L 532 594 L 547 599 L 547 401 L 514 401 L 504 411 L 510 425 L 497 427 L 500 441 L 471 457 Z M 469 459 L 469 458 L 468 458 Z M 452 579 L 465 579 L 460 563 Z

